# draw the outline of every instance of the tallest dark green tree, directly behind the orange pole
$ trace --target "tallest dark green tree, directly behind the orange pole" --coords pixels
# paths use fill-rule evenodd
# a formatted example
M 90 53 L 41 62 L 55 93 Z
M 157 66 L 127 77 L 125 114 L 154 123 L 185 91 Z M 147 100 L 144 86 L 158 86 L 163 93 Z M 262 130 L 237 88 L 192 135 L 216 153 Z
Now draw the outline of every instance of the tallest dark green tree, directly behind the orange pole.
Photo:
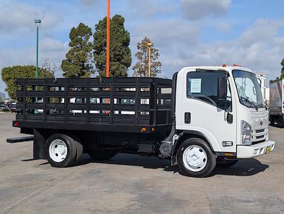
M 130 34 L 124 28 L 123 16 L 111 19 L 110 76 L 127 76 L 131 66 Z M 93 33 L 93 61 L 101 77 L 106 76 L 106 17 L 95 26 Z

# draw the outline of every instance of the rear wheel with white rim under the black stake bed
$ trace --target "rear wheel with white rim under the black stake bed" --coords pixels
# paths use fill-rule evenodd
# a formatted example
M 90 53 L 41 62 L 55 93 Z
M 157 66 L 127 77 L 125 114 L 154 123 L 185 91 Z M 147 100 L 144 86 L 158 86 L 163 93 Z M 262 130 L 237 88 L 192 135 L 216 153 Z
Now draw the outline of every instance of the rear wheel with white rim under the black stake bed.
M 73 165 L 77 158 L 76 141 L 65 134 L 56 133 L 46 141 L 46 159 L 51 166 L 64 168 Z

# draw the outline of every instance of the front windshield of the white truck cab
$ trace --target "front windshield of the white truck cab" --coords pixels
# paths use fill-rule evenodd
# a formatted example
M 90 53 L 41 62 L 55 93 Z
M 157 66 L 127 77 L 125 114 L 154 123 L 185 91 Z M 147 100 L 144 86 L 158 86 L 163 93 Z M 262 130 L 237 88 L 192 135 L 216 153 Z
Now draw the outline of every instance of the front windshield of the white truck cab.
M 264 108 L 263 95 L 255 73 L 233 70 L 240 103 L 248 108 Z

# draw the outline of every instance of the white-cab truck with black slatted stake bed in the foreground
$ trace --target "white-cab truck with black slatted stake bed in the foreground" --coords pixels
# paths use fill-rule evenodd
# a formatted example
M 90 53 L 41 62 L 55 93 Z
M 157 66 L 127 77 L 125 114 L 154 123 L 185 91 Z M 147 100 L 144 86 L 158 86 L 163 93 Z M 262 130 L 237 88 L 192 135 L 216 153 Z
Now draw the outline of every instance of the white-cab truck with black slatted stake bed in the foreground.
M 273 151 L 255 73 L 240 66 L 187 67 L 163 78 L 16 81 L 13 126 L 34 134 L 34 159 L 54 167 L 116 153 L 171 159 L 186 175 Z

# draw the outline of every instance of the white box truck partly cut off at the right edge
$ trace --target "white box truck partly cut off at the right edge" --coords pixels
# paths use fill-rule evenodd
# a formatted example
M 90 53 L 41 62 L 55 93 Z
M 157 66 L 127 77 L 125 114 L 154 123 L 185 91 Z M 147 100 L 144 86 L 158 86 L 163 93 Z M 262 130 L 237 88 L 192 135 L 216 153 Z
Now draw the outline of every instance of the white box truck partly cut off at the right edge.
M 269 120 L 271 126 L 278 123 L 278 126 L 284 126 L 284 103 L 283 103 L 283 80 L 276 80 L 270 83 L 270 104 Z

